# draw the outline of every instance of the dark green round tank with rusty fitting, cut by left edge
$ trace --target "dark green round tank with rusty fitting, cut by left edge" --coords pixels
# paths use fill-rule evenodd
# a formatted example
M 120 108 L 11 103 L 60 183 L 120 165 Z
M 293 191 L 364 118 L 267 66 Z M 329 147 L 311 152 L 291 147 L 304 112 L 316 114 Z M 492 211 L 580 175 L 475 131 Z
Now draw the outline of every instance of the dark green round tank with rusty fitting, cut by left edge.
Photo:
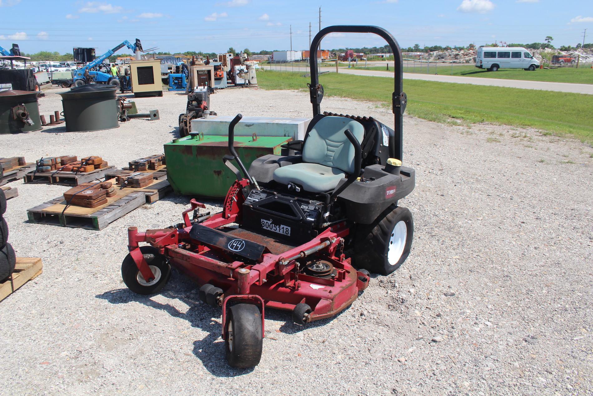
M 41 128 L 37 92 L 0 92 L 0 134 L 39 131 Z

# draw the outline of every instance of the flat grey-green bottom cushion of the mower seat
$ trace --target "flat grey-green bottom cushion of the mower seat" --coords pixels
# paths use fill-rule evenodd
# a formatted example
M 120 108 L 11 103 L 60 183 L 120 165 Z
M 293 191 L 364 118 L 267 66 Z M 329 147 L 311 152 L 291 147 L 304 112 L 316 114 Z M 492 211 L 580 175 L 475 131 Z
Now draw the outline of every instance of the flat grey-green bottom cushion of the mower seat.
M 339 169 L 306 162 L 279 167 L 274 171 L 276 182 L 285 185 L 297 183 L 310 192 L 331 191 L 345 177 L 346 174 Z

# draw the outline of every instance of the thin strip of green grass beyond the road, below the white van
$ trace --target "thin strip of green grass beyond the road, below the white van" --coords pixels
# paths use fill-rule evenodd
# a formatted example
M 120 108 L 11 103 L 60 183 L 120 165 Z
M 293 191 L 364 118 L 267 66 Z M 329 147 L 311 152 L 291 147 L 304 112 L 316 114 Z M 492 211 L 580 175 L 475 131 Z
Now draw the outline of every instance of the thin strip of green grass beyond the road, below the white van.
M 583 67 L 584 66 L 584 67 Z M 527 81 L 546 81 L 551 83 L 575 83 L 575 84 L 593 84 L 593 69 L 591 64 L 581 65 L 578 69 L 565 67 L 559 69 L 537 69 L 535 71 L 525 71 L 522 69 L 500 69 L 496 72 L 490 72 L 478 69 L 473 65 L 451 66 L 431 64 L 426 68 L 426 64 L 414 66 L 404 66 L 404 72 L 439 74 L 439 75 L 458 75 L 461 77 L 483 77 L 483 78 L 506 78 L 507 80 L 527 80 Z M 357 67 L 361 70 L 379 70 L 387 71 L 386 66 L 369 66 L 368 68 Z M 393 63 L 389 65 L 390 72 L 393 73 Z

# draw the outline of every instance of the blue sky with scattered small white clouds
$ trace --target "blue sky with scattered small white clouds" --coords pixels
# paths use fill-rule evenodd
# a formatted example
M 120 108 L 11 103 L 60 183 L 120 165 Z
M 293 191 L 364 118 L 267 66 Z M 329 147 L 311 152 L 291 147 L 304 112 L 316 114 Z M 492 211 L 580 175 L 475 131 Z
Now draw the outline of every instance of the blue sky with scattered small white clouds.
M 21 51 L 71 53 L 95 47 L 97 54 L 140 39 L 144 49 L 162 52 L 226 52 L 307 49 L 321 27 L 371 24 L 383 27 L 401 47 L 419 44 L 467 46 L 493 42 L 576 45 L 589 28 L 591 0 L 0 0 L 0 46 Z M 381 46 L 372 34 L 334 34 L 324 49 Z M 125 49 L 117 53 L 128 53 Z

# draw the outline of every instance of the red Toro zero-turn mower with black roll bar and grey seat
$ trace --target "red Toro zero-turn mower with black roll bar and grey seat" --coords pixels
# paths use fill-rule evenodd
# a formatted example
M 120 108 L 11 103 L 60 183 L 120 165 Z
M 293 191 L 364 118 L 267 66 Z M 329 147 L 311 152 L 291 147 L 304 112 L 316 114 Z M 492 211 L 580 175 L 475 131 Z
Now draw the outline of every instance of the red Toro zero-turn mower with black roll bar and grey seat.
M 292 311 L 301 325 L 336 315 L 366 289 L 369 271 L 390 274 L 410 252 L 412 214 L 398 206 L 415 184 L 414 170 L 401 166 L 406 94 L 400 47 L 380 27 L 330 26 L 311 43 L 315 58 L 320 40 L 331 32 L 375 33 L 390 44 L 396 58 L 395 131 L 373 118 L 320 113 L 323 87 L 313 59 L 314 117 L 305 140 L 286 145 L 292 155 L 260 157 L 247 171 L 233 147 L 237 115 L 228 131 L 231 155 L 222 159 L 237 181 L 222 211 L 200 213 L 205 205 L 192 199 L 183 223 L 128 230 L 126 286 L 156 293 L 167 283 L 170 265 L 193 278 L 202 285 L 204 302 L 222 306 L 222 337 L 233 367 L 259 363 L 264 308 Z

